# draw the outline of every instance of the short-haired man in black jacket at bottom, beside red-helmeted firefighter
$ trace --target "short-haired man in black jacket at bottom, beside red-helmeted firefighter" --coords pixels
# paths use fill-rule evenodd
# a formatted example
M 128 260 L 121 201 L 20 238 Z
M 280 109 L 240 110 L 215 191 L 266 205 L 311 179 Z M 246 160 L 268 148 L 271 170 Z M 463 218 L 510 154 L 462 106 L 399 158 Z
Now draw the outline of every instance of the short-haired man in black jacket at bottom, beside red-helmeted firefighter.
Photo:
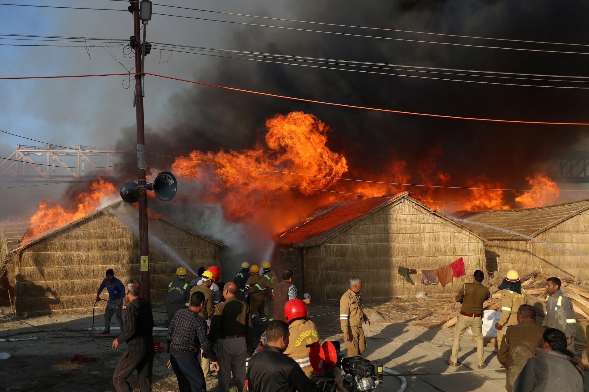
M 247 366 L 250 392 L 316 392 L 317 385 L 309 380 L 292 358 L 283 354 L 289 346 L 289 327 L 274 320 L 266 329 L 268 344 L 254 354 Z

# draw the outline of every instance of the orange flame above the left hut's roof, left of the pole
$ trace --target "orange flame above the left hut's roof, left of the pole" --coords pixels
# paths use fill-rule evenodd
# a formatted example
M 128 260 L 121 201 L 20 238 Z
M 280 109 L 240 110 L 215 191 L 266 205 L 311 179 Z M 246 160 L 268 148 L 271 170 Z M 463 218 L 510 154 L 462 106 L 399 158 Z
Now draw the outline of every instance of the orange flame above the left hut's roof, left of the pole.
M 37 213 L 31 217 L 31 225 L 22 239 L 22 243 L 47 232 L 47 230 L 73 222 L 94 212 L 100 206 L 102 199 L 113 193 L 115 193 L 114 185 L 100 179 L 92 182 L 89 190 L 72 197 L 72 202 L 77 204 L 71 209 L 64 208 L 58 203 L 52 203 L 51 200 L 42 201 L 39 203 Z

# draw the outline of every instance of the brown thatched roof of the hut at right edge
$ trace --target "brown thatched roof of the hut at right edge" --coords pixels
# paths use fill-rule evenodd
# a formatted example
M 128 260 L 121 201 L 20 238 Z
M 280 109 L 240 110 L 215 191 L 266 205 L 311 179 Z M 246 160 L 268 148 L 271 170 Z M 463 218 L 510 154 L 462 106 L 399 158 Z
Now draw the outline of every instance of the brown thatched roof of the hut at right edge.
M 525 236 L 537 237 L 552 227 L 580 215 L 587 209 L 589 209 L 589 199 L 584 199 L 554 206 L 473 212 L 461 217 L 461 219 L 473 223 L 461 222 L 488 240 L 526 240 L 525 237 L 517 234 L 483 225 L 500 227 Z M 480 225 L 474 222 L 480 223 Z

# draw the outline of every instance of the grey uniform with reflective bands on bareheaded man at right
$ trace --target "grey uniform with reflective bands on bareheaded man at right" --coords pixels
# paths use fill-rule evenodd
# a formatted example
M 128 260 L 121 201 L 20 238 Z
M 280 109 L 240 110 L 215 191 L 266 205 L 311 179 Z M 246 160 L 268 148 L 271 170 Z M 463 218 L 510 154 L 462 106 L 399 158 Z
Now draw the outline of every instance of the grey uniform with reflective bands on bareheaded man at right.
M 560 289 L 553 295 L 546 296 L 546 317 L 542 325 L 548 328 L 556 328 L 564 332 L 571 344 L 567 346 L 570 354 L 575 355 L 575 336 L 577 335 L 577 320 L 573 311 L 573 304 Z M 567 354 L 568 355 L 568 354 Z

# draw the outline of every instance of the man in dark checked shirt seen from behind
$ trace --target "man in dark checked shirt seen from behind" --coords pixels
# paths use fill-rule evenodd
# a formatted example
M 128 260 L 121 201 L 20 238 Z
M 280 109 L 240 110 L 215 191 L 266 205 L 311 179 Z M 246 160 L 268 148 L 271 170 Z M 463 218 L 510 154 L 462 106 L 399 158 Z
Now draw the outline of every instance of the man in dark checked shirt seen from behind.
M 217 355 L 207 337 L 207 323 L 198 316 L 204 306 L 204 294 L 194 291 L 190 296 L 190 307 L 180 309 L 168 327 L 168 351 L 170 364 L 176 373 L 180 392 L 206 392 L 203 369 L 198 363 L 198 353 L 213 361 L 219 370 Z

